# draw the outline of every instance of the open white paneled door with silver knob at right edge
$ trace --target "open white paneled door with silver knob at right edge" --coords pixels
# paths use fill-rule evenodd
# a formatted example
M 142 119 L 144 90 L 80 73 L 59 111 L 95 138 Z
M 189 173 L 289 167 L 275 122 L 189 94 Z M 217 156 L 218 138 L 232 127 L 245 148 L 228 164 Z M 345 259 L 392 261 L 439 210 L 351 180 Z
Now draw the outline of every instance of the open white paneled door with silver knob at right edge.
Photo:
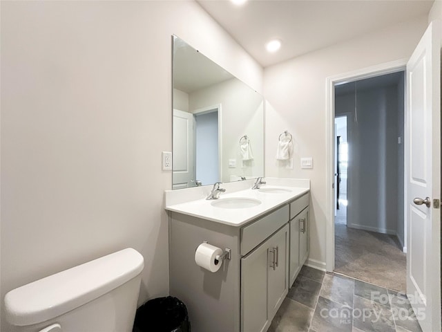
M 440 29 L 430 24 L 407 63 L 407 294 L 423 332 L 441 331 Z

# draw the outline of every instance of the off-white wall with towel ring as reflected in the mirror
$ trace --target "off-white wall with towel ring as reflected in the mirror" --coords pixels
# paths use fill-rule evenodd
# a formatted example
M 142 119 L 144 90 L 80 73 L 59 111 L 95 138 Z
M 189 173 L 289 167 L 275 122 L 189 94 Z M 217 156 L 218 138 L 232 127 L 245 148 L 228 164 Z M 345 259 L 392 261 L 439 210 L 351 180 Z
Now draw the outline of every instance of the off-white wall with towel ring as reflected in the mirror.
M 264 175 L 264 108 L 262 96 L 235 78 L 195 91 L 189 95 L 189 109 L 221 104 L 222 182 L 234 176 Z M 240 138 L 249 137 L 253 160 L 242 167 Z M 236 168 L 229 168 L 229 159 Z

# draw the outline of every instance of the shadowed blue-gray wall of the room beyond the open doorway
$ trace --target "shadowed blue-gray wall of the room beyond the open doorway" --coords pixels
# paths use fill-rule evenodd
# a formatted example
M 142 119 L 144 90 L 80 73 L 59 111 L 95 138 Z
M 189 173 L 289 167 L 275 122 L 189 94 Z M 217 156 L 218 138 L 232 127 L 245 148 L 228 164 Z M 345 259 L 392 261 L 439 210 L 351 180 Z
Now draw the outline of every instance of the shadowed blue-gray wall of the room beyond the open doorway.
M 336 95 L 336 116 L 349 116 L 347 225 L 389 234 L 401 229 L 398 235 L 403 237 L 403 225 L 398 227 L 399 211 L 403 212 L 398 203 L 398 169 L 403 168 L 399 167 L 403 165 L 398 149 L 398 107 L 403 107 L 399 98 L 397 85 L 358 90 L 356 122 L 354 91 Z

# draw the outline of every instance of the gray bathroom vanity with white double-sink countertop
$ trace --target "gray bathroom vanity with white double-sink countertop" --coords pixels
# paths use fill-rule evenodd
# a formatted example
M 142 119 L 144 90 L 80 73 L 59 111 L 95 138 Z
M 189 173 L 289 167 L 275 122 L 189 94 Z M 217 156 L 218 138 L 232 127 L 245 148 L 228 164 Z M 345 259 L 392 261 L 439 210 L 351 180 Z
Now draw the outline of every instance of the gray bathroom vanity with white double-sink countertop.
M 267 331 L 308 257 L 309 181 L 266 181 L 260 190 L 249 189 L 253 181 L 223 184 L 213 201 L 204 187 L 166 192 L 170 293 L 195 332 Z M 230 250 L 215 273 L 195 263 L 204 241 Z

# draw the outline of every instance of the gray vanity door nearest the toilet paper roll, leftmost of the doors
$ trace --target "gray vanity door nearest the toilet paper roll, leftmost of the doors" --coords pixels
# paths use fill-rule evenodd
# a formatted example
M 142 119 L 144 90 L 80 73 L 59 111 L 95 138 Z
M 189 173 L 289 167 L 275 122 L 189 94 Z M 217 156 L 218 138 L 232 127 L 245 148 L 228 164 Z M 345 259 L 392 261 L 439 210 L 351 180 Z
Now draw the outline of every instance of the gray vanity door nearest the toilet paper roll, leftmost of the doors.
M 265 332 L 270 326 L 267 310 L 269 240 L 241 259 L 241 331 Z

